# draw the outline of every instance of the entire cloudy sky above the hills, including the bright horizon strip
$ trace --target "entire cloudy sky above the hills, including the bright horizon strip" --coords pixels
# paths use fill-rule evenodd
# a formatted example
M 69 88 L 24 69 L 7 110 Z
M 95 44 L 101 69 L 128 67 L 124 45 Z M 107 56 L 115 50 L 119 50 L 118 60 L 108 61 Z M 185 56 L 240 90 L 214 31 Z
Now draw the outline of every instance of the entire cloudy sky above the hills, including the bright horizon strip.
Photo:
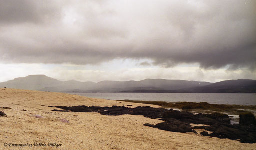
M 256 0 L 0 0 L 0 82 L 256 79 Z

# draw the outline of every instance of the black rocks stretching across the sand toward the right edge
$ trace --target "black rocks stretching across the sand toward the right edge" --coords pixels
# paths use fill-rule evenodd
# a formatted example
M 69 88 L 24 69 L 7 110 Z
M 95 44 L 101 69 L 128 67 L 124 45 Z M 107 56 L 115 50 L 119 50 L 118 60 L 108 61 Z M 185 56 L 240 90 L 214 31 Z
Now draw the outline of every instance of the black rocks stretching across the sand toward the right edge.
M 54 106 L 51 106 L 54 107 Z M 98 107 L 85 105 L 82 106 L 55 106 L 63 110 L 72 112 L 98 112 L 102 115 L 143 115 L 148 118 L 160 118 L 164 122 L 158 124 L 144 124 L 145 126 L 155 127 L 161 130 L 173 132 L 194 132 L 193 129 L 205 129 L 211 133 L 202 132 L 203 136 L 228 138 L 232 140 L 240 139 L 243 143 L 256 143 L 256 125 L 248 122 L 253 120 L 251 114 L 241 114 L 240 124 L 231 124 L 229 116 L 221 113 L 211 114 L 193 114 L 187 111 L 178 111 L 173 109 L 152 108 L 150 106 L 138 106 L 135 108 L 124 106 Z M 56 110 L 61 111 L 61 110 Z M 253 117 L 255 119 L 255 117 Z M 253 121 L 254 122 L 254 121 Z M 193 124 L 205 124 L 208 126 L 194 126 Z

